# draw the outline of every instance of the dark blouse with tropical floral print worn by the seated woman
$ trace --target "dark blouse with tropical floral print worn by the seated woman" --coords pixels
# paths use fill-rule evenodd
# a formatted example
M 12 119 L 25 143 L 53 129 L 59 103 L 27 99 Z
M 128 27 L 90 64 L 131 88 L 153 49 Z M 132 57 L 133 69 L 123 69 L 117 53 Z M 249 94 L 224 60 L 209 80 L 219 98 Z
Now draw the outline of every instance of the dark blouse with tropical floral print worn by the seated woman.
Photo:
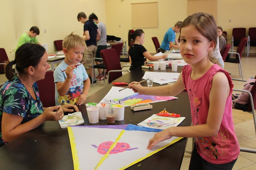
M 21 124 L 28 122 L 43 113 L 43 105 L 39 99 L 38 86 L 33 84 L 36 100 L 15 74 L 12 80 L 6 81 L 0 89 L 0 147 L 6 144 L 2 138 L 3 112 L 22 116 Z

